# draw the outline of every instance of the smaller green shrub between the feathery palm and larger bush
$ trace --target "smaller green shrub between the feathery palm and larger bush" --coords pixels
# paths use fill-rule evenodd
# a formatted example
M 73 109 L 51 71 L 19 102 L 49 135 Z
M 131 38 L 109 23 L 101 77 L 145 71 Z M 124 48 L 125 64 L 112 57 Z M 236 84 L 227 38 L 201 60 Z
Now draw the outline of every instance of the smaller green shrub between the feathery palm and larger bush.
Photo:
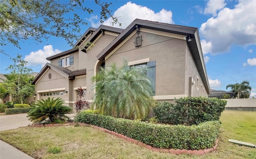
M 174 104 L 157 102 L 153 110 L 155 118 L 161 123 L 174 123 Z

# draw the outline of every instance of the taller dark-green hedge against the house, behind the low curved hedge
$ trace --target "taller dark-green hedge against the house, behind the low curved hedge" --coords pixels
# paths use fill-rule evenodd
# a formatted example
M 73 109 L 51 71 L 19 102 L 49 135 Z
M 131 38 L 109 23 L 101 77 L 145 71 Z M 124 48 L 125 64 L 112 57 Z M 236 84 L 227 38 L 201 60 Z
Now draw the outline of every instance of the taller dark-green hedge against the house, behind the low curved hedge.
M 172 103 L 157 103 L 154 108 L 156 119 L 162 123 L 198 125 L 204 121 L 220 119 L 227 101 L 208 97 L 184 97 Z

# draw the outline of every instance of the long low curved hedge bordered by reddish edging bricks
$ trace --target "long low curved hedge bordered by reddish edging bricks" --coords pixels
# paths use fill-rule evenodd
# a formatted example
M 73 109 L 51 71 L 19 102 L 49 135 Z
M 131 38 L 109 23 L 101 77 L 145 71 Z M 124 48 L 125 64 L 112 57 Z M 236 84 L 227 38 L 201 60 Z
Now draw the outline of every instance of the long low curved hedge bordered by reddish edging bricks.
M 115 131 L 152 147 L 187 150 L 213 147 L 220 128 L 219 121 L 208 121 L 197 126 L 165 125 L 86 112 L 78 113 L 74 117 L 74 122 Z

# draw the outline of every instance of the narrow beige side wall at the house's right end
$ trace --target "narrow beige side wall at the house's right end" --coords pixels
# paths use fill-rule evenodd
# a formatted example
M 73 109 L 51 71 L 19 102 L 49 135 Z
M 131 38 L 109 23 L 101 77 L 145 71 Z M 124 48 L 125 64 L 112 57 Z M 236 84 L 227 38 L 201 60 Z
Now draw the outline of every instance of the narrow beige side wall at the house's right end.
M 202 78 L 198 72 L 198 69 L 196 68 L 196 64 L 194 62 L 190 49 L 186 44 L 186 68 L 185 68 L 185 94 L 186 95 L 189 95 L 189 87 L 191 87 L 191 85 L 189 85 L 190 77 L 192 77 L 193 81 L 195 81 L 195 84 L 192 85 L 192 96 L 208 97 L 207 91 L 205 89 L 204 83 L 202 82 Z M 197 77 L 199 79 L 199 87 L 196 86 Z

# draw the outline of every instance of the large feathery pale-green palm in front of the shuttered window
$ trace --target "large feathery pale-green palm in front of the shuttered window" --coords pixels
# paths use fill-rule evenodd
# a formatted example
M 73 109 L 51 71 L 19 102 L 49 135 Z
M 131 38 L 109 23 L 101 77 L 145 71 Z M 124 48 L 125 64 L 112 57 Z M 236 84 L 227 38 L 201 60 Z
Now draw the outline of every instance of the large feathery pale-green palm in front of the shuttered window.
M 155 106 L 150 79 L 142 72 L 147 68 L 128 66 L 124 60 L 120 68 L 116 63 L 100 68 L 92 77 L 94 103 L 100 113 L 127 119 L 145 119 L 150 107 Z

